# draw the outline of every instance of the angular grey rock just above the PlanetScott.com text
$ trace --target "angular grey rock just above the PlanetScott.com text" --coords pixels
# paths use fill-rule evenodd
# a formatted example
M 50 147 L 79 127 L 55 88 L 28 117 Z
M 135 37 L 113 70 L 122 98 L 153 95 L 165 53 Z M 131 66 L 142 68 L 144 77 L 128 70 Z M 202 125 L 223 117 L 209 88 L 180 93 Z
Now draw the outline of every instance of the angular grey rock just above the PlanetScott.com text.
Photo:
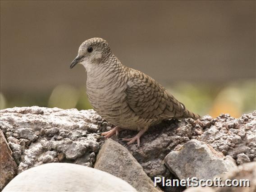
M 179 179 L 197 177 L 213 179 L 236 167 L 235 160 L 215 151 L 210 145 L 195 139 L 165 157 L 165 165 Z

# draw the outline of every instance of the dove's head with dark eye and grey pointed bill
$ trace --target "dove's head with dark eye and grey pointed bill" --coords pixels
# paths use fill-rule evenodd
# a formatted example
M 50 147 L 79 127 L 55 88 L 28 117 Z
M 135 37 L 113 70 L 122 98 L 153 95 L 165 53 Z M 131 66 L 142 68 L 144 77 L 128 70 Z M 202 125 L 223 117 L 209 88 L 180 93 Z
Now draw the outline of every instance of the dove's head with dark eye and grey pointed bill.
M 98 64 L 111 53 L 107 41 L 94 37 L 84 41 L 78 49 L 78 56 L 72 61 L 70 69 L 76 64 L 82 64 L 86 69 L 92 64 Z

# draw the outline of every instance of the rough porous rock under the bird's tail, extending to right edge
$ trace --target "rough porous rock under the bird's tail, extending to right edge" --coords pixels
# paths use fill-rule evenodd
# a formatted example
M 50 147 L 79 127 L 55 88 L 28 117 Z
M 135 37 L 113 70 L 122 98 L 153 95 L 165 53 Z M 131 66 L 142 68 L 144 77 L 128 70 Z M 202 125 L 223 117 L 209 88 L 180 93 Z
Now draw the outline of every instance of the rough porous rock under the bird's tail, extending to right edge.
M 124 145 L 151 178 L 173 177 L 164 165 L 164 158 L 170 151 L 192 139 L 205 142 L 235 160 L 241 153 L 247 155 L 250 161 L 256 158 L 256 111 L 243 114 L 238 119 L 229 114 L 220 114 L 216 118 L 205 115 L 197 120 L 166 121 L 143 134 L 139 149 L 136 144 L 127 146 L 122 141 L 122 137 L 134 137 L 136 134 L 125 130 L 119 137 L 111 138 Z

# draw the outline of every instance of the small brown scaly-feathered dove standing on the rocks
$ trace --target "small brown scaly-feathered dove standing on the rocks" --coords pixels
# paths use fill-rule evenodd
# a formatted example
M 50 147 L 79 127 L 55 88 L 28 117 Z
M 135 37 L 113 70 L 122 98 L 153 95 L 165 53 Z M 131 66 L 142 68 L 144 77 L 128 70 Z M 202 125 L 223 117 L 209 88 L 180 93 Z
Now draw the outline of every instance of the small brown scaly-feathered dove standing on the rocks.
M 82 64 L 87 71 L 87 97 L 93 109 L 115 127 L 101 133 L 105 138 L 125 129 L 137 131 L 123 138 L 130 145 L 153 125 L 169 119 L 200 119 L 187 110 L 160 83 L 139 70 L 123 65 L 113 54 L 109 43 L 100 37 L 88 39 L 79 46 L 70 69 Z

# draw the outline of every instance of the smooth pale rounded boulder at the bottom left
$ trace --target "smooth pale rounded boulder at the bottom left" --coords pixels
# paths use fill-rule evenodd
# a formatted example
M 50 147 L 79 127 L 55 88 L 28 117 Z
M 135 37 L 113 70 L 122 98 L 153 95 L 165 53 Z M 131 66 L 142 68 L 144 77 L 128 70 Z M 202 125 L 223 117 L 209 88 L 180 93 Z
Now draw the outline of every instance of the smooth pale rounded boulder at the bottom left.
M 18 174 L 3 192 L 131 191 L 127 182 L 104 171 L 69 163 L 49 163 Z

